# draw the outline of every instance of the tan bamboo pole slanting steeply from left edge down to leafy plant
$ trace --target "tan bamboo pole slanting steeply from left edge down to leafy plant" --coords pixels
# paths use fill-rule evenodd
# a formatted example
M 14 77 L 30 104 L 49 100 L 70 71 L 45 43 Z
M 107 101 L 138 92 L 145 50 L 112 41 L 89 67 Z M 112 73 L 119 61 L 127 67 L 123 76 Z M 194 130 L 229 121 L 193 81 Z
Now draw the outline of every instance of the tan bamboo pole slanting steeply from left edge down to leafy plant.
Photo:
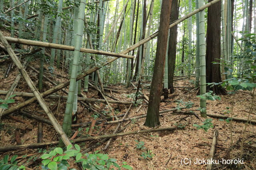
M 58 121 L 56 120 L 56 118 L 54 117 L 52 112 L 50 111 L 49 107 L 46 105 L 46 102 L 44 101 L 44 99 L 42 98 L 42 96 L 40 95 L 38 90 L 36 89 L 36 86 L 32 82 L 31 78 L 29 77 L 28 73 L 26 72 L 26 70 L 24 69 L 22 64 L 20 63 L 18 57 L 15 55 L 14 51 L 12 50 L 12 47 L 8 44 L 6 38 L 2 34 L 2 31 L 0 31 L 0 41 L 6 47 L 6 51 L 8 52 L 8 54 L 12 58 L 14 64 L 17 66 L 18 70 L 22 74 L 22 76 L 25 79 L 26 83 L 28 84 L 28 86 L 32 90 L 33 94 L 36 97 L 36 100 L 38 101 L 38 103 L 40 104 L 42 109 L 44 109 L 45 113 L 48 115 L 49 119 L 51 120 L 51 122 L 52 122 L 52 124 L 54 126 L 54 129 L 56 129 L 56 131 L 60 135 L 61 139 L 64 141 L 64 144 L 66 146 L 70 145 L 71 143 L 70 143 L 67 135 L 64 133 L 64 131 L 62 130 L 60 124 L 58 123 Z

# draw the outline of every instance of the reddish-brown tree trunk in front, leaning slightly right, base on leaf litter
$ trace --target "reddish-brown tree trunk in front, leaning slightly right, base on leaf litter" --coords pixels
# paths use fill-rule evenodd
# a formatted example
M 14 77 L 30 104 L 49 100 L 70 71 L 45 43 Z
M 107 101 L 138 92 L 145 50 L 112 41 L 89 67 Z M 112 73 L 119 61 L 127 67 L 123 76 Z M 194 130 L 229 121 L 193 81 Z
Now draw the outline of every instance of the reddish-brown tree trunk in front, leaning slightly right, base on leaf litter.
M 144 123 L 144 125 L 148 127 L 155 127 L 157 125 L 160 125 L 159 104 L 162 90 L 162 80 L 164 75 L 164 63 L 167 49 L 171 6 L 172 0 L 162 1 L 154 73 L 150 88 L 147 117 Z

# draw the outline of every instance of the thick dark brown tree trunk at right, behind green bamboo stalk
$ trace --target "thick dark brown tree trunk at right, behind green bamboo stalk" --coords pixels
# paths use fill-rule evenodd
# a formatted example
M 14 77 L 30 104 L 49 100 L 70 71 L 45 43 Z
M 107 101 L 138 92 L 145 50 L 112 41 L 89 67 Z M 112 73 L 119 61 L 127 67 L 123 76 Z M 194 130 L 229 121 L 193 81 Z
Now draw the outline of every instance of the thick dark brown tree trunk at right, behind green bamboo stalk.
M 211 2 L 212 0 L 209 0 Z M 220 7 L 217 2 L 208 8 L 207 34 L 206 34 L 206 82 L 222 82 L 220 73 Z M 221 86 L 207 86 L 215 94 L 226 94 Z

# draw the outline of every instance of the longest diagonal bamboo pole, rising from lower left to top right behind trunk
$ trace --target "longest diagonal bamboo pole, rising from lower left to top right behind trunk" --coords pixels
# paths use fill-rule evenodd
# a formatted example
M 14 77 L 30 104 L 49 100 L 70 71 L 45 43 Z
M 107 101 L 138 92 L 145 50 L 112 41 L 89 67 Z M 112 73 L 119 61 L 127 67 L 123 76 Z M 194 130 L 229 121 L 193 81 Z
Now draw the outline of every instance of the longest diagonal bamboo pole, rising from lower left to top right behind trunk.
M 204 6 L 201 6 L 199 9 L 196 9 L 196 10 L 194 10 L 193 12 L 190 12 L 188 15 L 186 15 L 186 16 L 180 18 L 179 20 L 176 20 L 174 23 L 172 23 L 169 28 L 171 28 L 171 27 L 177 25 L 178 23 L 180 23 L 180 22 L 186 20 L 186 19 L 189 18 L 190 16 L 192 16 L 192 15 L 194 15 L 194 14 L 196 14 L 196 13 L 202 11 L 202 10 L 204 10 L 205 8 L 211 6 L 212 4 L 214 4 L 214 3 L 218 2 L 218 1 L 220 1 L 220 0 L 213 0 L 212 2 L 209 2 L 208 4 L 206 4 L 206 5 L 204 5 Z M 153 34 L 153 35 L 154 35 L 154 34 Z M 136 49 L 137 47 L 139 47 L 140 45 L 138 46 L 138 44 L 141 44 L 141 45 L 142 45 L 142 44 L 144 44 L 144 43 L 150 41 L 151 39 L 154 38 L 153 35 L 150 35 L 149 37 L 147 37 L 146 39 L 143 39 L 143 40 L 140 41 L 139 43 L 132 45 L 132 46 L 129 47 L 128 49 L 122 51 L 121 54 L 127 54 L 127 53 L 129 53 L 130 51 L 132 51 L 132 50 Z M 156 36 L 157 36 L 157 35 L 156 35 Z M 156 36 L 155 36 L 155 37 L 156 37 Z M 59 45 L 59 44 L 58 44 L 58 45 Z M 102 68 L 103 66 L 106 66 L 106 65 L 109 64 L 109 63 L 112 63 L 113 61 L 115 61 L 115 60 L 117 60 L 117 59 L 118 59 L 118 57 L 109 59 L 106 63 L 102 64 L 101 66 L 94 66 L 93 68 L 90 68 L 90 69 L 86 70 L 83 74 L 79 74 L 79 75 L 76 77 L 76 81 L 81 80 L 82 78 L 88 76 L 88 75 L 91 74 L 92 72 L 95 72 L 96 70 Z M 64 87 L 66 87 L 66 86 L 68 86 L 68 85 L 69 85 L 69 82 L 70 82 L 70 81 L 67 81 L 67 82 L 64 82 L 64 83 L 62 83 L 62 84 L 59 84 L 58 86 L 55 86 L 54 88 L 51 88 L 51 89 L 49 89 L 49 90 L 47 90 L 47 91 L 41 93 L 41 95 L 42 95 L 43 97 L 46 97 L 46 96 L 48 96 L 48 95 L 50 95 L 50 94 L 52 94 L 52 93 L 54 93 L 54 92 L 57 92 L 58 90 L 60 90 L 60 89 L 62 89 L 62 88 L 64 88 Z M 9 115 L 9 114 L 13 113 L 14 111 L 17 111 L 17 110 L 19 110 L 19 109 L 22 109 L 22 108 L 28 106 L 29 104 L 31 104 L 32 102 L 35 102 L 35 101 L 36 101 L 36 98 L 31 98 L 30 100 L 27 100 L 27 101 L 25 101 L 25 102 L 23 102 L 23 103 L 21 103 L 21 104 L 18 104 L 18 105 L 14 106 L 14 107 L 9 108 L 8 110 L 4 111 L 2 115 L 3 115 L 3 116 L 4 116 L 4 115 Z

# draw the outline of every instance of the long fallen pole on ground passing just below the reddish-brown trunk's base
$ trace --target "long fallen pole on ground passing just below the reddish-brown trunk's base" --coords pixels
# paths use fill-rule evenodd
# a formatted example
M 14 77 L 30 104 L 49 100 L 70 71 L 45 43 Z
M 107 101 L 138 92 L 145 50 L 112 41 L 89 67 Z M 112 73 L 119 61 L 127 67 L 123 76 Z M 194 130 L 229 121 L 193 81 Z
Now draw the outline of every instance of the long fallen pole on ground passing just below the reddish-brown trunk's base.
M 101 135 L 101 136 L 94 136 L 94 137 L 85 137 L 80 139 L 73 139 L 74 143 L 78 142 L 84 142 L 84 141 L 92 141 L 92 140 L 98 140 L 98 139 L 105 139 L 105 138 L 111 138 L 111 137 L 120 137 L 125 135 L 134 135 L 138 133 L 148 133 L 148 132 L 157 132 L 157 131 L 173 131 L 176 129 L 181 129 L 177 127 L 166 127 L 166 128 L 158 128 L 158 129 L 147 129 L 147 130 L 139 130 L 139 131 L 130 131 L 130 132 L 124 132 L 124 133 L 116 133 L 116 134 L 110 134 L 110 135 Z M 13 146 L 5 146 L 0 147 L 0 152 L 6 152 L 10 150 L 18 150 L 18 149 L 36 149 L 36 148 L 44 148 L 47 146 L 54 146 L 58 145 L 59 141 L 54 142 L 48 142 L 48 143 L 34 143 L 34 144 L 27 144 L 27 145 L 13 145 Z

